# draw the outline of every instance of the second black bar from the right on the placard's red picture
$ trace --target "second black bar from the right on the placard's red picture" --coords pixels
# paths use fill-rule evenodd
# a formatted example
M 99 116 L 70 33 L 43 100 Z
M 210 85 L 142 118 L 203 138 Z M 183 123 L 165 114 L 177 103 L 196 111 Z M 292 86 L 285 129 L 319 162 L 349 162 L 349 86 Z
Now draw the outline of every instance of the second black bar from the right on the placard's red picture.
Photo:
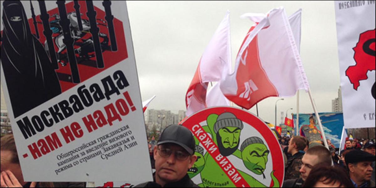
M 100 41 L 99 41 L 99 27 L 97 27 L 97 12 L 94 10 L 93 1 L 86 1 L 86 7 L 88 9 L 88 12 L 86 12 L 86 15 L 89 18 L 90 23 L 90 33 L 94 42 L 94 51 L 96 55 L 97 60 L 97 67 L 98 68 L 104 68 L 105 65 L 103 63 L 103 56 L 102 56 L 102 49 L 100 47 Z

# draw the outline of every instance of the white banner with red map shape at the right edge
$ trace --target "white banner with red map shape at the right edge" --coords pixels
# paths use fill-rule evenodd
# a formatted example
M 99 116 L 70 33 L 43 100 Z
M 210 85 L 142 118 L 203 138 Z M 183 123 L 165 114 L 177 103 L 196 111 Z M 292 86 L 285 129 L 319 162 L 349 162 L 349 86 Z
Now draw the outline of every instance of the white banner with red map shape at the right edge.
M 344 127 L 375 127 L 375 1 L 335 1 Z

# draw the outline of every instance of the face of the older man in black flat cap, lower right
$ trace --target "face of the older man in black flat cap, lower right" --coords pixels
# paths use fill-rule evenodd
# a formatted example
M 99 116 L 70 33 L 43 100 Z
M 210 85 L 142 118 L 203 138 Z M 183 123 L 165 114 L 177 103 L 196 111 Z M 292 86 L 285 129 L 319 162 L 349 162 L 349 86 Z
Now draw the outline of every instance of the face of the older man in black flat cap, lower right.
M 350 174 L 352 174 L 359 181 L 369 181 L 372 176 L 372 162 L 362 161 L 357 164 L 349 163 Z

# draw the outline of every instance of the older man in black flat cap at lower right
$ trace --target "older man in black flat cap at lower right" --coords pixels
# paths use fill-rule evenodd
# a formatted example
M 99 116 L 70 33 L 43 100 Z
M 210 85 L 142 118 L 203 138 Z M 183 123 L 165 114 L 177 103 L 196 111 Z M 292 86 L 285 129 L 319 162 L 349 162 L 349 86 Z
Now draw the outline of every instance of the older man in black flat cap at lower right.
M 347 169 L 355 187 L 374 187 L 371 181 L 373 168 L 371 164 L 375 156 L 362 150 L 353 150 L 345 155 Z

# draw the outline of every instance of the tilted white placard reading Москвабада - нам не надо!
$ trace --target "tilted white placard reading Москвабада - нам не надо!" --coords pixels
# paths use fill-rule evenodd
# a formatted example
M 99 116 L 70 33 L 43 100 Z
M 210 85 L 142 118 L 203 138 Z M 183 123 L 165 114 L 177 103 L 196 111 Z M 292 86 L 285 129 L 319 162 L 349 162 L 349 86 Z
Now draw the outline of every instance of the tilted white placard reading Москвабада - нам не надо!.
M 126 2 L 1 3 L 1 83 L 24 180 L 152 180 Z

